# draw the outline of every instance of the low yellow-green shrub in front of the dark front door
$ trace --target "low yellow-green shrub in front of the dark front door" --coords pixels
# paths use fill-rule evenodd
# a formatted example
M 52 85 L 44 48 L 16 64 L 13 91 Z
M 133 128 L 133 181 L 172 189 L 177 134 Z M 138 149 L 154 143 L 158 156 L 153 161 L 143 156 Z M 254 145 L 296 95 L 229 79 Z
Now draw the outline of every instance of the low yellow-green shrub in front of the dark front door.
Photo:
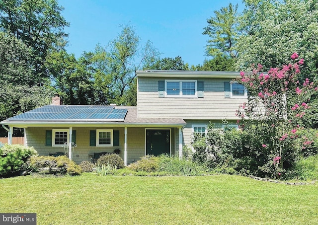
M 130 164 L 130 169 L 137 172 L 155 172 L 159 169 L 159 158 L 154 155 L 146 155 L 141 160 Z

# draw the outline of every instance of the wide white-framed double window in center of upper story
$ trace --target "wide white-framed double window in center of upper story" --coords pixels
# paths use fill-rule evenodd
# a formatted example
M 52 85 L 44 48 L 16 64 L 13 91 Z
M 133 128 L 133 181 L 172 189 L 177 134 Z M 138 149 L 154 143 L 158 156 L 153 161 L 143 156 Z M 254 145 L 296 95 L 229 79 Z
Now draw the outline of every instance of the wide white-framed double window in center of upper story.
M 165 80 L 166 97 L 197 97 L 196 80 Z

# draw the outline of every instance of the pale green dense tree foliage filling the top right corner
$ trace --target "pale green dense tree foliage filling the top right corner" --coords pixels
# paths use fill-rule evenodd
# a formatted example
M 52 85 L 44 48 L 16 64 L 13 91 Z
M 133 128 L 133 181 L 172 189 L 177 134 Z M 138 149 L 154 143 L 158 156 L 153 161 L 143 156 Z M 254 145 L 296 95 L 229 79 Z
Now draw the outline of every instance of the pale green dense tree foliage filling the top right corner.
M 245 0 L 238 70 L 260 63 L 264 70 L 286 64 L 297 52 L 304 77 L 318 72 L 318 4 L 313 0 Z

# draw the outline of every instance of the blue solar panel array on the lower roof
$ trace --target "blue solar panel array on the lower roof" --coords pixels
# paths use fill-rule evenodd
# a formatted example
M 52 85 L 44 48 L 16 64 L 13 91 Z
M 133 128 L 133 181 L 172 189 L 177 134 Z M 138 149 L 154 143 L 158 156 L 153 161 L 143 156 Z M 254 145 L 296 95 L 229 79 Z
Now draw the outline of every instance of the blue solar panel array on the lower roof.
M 8 121 L 124 121 L 127 109 L 114 106 L 46 105 Z

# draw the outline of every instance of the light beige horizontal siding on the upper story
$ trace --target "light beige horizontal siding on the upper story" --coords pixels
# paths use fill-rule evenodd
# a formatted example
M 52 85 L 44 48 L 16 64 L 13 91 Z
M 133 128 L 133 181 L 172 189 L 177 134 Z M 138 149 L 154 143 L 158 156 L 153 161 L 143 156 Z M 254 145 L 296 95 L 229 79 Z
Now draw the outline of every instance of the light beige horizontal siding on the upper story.
M 138 78 L 138 117 L 220 120 L 238 119 L 235 113 L 242 98 L 224 98 L 224 82 L 230 79 L 196 79 L 204 81 L 204 98 L 159 98 L 158 81 L 165 78 Z

